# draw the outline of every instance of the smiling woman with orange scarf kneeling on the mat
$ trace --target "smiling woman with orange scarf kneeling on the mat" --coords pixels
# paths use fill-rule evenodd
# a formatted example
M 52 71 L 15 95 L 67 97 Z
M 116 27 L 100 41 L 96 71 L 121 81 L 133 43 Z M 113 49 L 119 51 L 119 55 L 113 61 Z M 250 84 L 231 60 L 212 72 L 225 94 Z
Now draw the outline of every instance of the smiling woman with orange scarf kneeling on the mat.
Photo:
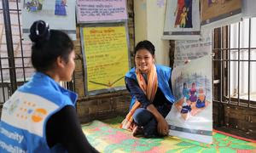
M 126 88 L 131 94 L 130 112 L 121 127 L 134 136 L 146 138 L 165 136 L 169 133 L 165 117 L 172 108 L 172 69 L 154 65 L 154 45 L 145 40 L 135 48 L 135 64 L 125 75 Z

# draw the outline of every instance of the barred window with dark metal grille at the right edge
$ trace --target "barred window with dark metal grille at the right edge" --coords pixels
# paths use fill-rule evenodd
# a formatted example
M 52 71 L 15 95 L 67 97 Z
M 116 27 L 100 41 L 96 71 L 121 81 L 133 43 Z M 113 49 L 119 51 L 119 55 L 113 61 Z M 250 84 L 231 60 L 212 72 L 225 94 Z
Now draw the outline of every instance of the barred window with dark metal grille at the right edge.
M 214 101 L 256 108 L 256 18 L 214 30 Z M 253 71 L 254 70 L 254 71 Z

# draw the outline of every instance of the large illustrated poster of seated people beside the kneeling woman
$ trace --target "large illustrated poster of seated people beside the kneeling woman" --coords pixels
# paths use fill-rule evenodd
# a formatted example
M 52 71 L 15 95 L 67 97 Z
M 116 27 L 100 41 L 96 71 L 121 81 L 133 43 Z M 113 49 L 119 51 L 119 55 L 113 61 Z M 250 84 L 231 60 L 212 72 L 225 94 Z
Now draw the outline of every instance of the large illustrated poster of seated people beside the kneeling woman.
M 169 135 L 212 143 L 212 56 L 177 66 L 172 71 L 176 102 L 166 116 Z

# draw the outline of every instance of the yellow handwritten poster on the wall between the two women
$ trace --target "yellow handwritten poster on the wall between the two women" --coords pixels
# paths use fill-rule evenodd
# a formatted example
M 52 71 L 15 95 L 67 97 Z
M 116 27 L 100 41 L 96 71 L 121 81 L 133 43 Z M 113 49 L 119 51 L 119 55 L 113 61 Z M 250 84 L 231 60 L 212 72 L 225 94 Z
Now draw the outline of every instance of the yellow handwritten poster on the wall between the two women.
M 129 71 L 125 26 L 84 27 L 87 91 L 125 86 Z

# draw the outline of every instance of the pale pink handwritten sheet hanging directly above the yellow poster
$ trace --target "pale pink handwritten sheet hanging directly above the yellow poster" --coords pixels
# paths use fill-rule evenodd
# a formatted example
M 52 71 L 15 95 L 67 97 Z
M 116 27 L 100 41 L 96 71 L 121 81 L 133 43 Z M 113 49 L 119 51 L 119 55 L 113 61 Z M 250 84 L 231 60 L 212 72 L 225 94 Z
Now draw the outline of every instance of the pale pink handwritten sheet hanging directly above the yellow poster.
M 125 0 L 77 0 L 78 23 L 127 20 Z

